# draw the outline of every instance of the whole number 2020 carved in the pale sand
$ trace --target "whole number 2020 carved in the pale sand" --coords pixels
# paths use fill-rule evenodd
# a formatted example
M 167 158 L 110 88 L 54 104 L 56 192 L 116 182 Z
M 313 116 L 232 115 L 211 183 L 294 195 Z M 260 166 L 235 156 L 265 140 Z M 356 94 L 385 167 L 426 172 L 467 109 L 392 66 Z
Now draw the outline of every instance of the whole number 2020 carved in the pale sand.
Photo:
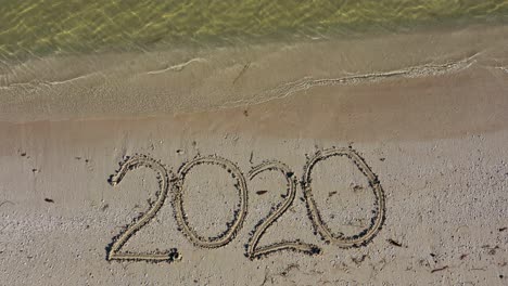
M 376 196 L 374 209 L 372 210 L 372 218 L 370 225 L 361 232 L 345 236 L 342 233 L 333 233 L 327 223 L 321 219 L 320 211 L 314 200 L 312 187 L 312 174 L 314 167 L 320 161 L 327 160 L 333 156 L 343 156 L 348 159 L 358 170 L 367 178 L 370 188 Z M 206 164 L 212 166 L 218 166 L 227 171 L 234 180 L 234 187 L 237 188 L 240 196 L 240 204 L 234 210 L 234 219 L 228 223 L 228 227 L 225 232 L 220 233 L 215 237 L 204 237 L 193 230 L 188 221 L 188 216 L 183 210 L 183 182 L 186 176 L 195 166 Z M 151 219 L 153 219 L 164 202 L 167 198 L 168 193 L 173 197 L 174 217 L 177 221 L 178 229 L 185 234 L 185 236 L 195 246 L 202 248 L 218 248 L 227 245 L 234 239 L 237 233 L 242 229 L 243 222 L 247 214 L 247 180 L 241 172 L 240 168 L 237 167 L 232 161 L 218 157 L 218 156 L 198 156 L 191 161 L 183 164 L 178 170 L 177 174 L 168 171 L 157 160 L 145 156 L 135 155 L 128 157 L 125 161 L 120 162 L 120 168 L 115 174 L 111 176 L 109 182 L 112 185 L 116 185 L 122 182 L 123 178 L 129 170 L 138 167 L 147 167 L 152 169 L 158 179 L 158 192 L 156 194 L 155 203 L 153 203 L 150 209 L 128 225 L 118 236 L 113 238 L 113 242 L 106 247 L 106 260 L 138 260 L 138 261 L 151 261 L 151 262 L 173 262 L 181 259 L 181 255 L 176 248 L 164 252 L 148 252 L 148 253 L 135 253 L 120 251 L 122 247 L 127 240 L 136 234 L 141 227 L 143 227 Z M 321 252 L 321 249 L 312 244 L 303 243 L 300 240 L 294 242 L 279 242 L 267 246 L 258 247 L 261 237 L 265 234 L 266 230 L 276 222 L 293 204 L 296 196 L 296 179 L 294 172 L 284 164 L 277 160 L 264 161 L 261 165 L 251 169 L 247 174 L 249 181 L 256 178 L 263 172 L 278 172 L 287 181 L 287 194 L 282 197 L 284 200 L 274 208 L 266 218 L 262 219 L 252 231 L 252 235 L 246 244 L 245 256 L 250 259 L 256 259 L 264 257 L 269 253 L 274 253 L 282 250 L 294 250 L 307 255 L 317 255 Z M 308 217 L 313 223 L 316 233 L 319 233 L 321 238 L 329 244 L 335 245 L 341 248 L 359 247 L 369 243 L 376 234 L 380 231 L 384 221 L 384 192 L 378 180 L 378 177 L 371 171 L 370 167 L 365 162 L 358 153 L 352 148 L 328 148 L 317 152 L 305 165 L 304 173 L 301 181 L 302 191 L 304 194 L 304 200 L 307 207 Z

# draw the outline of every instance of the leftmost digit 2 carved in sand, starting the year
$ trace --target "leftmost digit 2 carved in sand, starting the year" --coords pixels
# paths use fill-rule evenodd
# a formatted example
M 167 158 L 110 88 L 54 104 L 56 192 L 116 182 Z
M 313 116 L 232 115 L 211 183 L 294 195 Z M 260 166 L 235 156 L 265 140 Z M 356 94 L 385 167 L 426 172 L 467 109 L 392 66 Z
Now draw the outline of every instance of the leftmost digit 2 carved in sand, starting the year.
M 156 161 L 153 158 L 150 158 L 145 155 L 135 155 L 130 158 L 127 158 L 125 161 L 120 162 L 119 170 L 111 176 L 109 182 L 113 186 L 117 185 L 124 179 L 125 174 L 134 169 L 139 167 L 147 167 L 152 169 L 157 174 L 158 180 L 158 192 L 156 194 L 155 203 L 150 207 L 150 209 L 142 214 L 139 219 L 129 225 L 125 231 L 123 231 L 117 237 L 113 238 L 113 243 L 106 247 L 106 260 L 143 260 L 151 262 L 173 262 L 175 260 L 181 259 L 177 249 L 173 248 L 167 252 L 154 252 L 154 253 L 131 253 L 131 252 L 119 252 L 122 247 L 127 243 L 127 240 L 132 237 L 136 232 L 143 227 L 151 219 L 155 217 L 157 211 L 164 204 L 164 200 L 167 197 L 167 192 L 169 190 L 169 174 L 164 168 L 164 166 Z

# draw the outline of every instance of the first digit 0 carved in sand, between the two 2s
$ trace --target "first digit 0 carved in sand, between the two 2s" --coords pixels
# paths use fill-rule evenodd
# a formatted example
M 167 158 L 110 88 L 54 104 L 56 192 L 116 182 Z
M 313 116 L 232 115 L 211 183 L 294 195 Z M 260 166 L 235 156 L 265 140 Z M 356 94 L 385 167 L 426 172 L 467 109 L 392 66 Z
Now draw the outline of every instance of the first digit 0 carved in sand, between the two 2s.
M 216 237 L 203 237 L 200 236 L 190 225 L 187 219 L 187 214 L 183 210 L 183 182 L 186 180 L 187 173 L 201 164 L 217 165 L 224 168 L 230 176 L 237 181 L 234 184 L 236 188 L 240 195 L 240 209 L 234 210 L 234 219 L 232 222 L 228 223 L 228 229 L 217 235 Z M 245 178 L 243 177 L 241 170 L 228 159 L 217 157 L 217 156 L 206 156 L 206 157 L 196 157 L 193 160 L 185 164 L 178 171 L 178 181 L 175 185 L 175 197 L 174 197 L 174 209 L 175 218 L 180 227 L 180 231 L 189 238 L 191 243 L 195 246 L 204 248 L 217 248 L 227 245 L 230 243 L 240 229 L 243 225 L 245 216 L 247 213 L 247 187 L 245 183 Z

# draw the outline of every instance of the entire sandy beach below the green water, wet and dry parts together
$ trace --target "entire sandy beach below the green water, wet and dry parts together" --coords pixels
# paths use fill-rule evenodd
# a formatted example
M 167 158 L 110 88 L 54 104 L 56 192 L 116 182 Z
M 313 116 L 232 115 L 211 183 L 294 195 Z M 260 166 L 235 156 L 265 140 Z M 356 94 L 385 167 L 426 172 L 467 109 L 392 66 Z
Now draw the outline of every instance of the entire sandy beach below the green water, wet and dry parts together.
M 0 284 L 506 285 L 507 32 L 3 65 Z

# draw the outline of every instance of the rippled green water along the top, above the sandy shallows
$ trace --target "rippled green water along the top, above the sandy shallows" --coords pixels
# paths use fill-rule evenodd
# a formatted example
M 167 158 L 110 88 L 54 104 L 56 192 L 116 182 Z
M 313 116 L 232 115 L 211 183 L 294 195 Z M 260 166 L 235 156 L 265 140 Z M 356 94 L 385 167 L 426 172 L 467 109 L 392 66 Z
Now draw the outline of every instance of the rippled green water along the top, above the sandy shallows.
M 508 22 L 508 0 L 0 0 L 0 58 Z

